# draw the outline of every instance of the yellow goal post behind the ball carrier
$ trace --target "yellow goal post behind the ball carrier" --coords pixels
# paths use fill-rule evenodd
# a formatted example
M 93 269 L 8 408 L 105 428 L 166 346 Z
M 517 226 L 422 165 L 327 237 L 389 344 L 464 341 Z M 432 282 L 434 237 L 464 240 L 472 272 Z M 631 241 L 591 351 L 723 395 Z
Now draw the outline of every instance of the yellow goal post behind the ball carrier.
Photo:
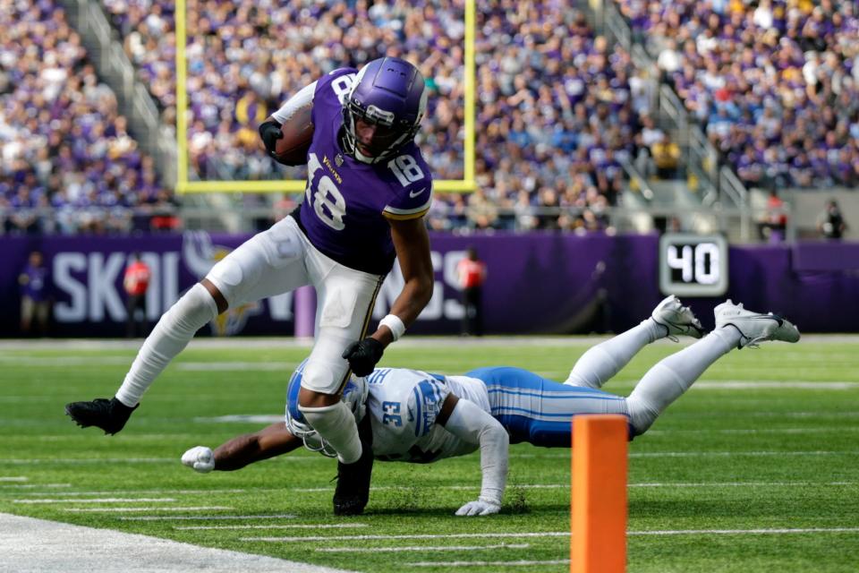
M 475 82 L 474 36 L 476 0 L 465 0 L 464 14 L 464 142 L 463 142 L 463 179 L 441 179 L 433 182 L 437 192 L 472 192 L 477 184 L 474 179 L 474 130 L 475 130 Z M 306 182 L 303 179 L 263 180 L 263 181 L 191 181 L 188 178 L 188 65 L 185 56 L 187 30 L 185 0 L 176 0 L 176 192 L 303 192 Z

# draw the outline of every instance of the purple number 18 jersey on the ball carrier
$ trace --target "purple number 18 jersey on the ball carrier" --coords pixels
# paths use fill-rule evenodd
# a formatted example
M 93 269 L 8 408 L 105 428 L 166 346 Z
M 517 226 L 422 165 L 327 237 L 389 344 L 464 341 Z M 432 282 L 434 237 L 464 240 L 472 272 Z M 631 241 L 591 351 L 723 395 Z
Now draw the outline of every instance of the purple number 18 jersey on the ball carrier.
M 355 73 L 341 68 L 317 81 L 308 184 L 295 215 L 320 252 L 351 269 L 385 275 L 395 259 L 387 219 L 422 217 L 432 201 L 432 176 L 413 142 L 376 165 L 344 154 L 341 98 L 352 89 Z

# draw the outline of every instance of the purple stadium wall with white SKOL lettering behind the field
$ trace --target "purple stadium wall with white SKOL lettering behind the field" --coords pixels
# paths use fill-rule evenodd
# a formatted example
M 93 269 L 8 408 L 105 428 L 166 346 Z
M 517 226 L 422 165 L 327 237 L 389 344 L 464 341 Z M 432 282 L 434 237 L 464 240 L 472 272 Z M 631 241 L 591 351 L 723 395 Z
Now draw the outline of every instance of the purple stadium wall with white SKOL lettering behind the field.
M 156 321 L 246 238 L 205 232 L 0 237 L 0 336 L 19 334 L 17 277 L 30 251 L 43 252 L 51 269 L 53 335 L 118 337 L 125 321 L 122 275 L 132 252 L 140 252 L 154 271 L 148 313 Z M 662 297 L 655 235 L 435 235 L 436 289 L 412 333 L 458 332 L 462 306 L 454 286 L 455 266 L 471 245 L 489 269 L 484 291 L 488 333 L 619 331 L 648 316 Z M 859 244 L 731 247 L 729 265 L 726 297 L 754 310 L 783 312 L 804 332 L 859 330 Z M 378 296 L 377 319 L 387 313 L 401 285 L 395 269 Z M 712 327 L 711 308 L 719 300 L 686 300 L 704 326 Z M 208 333 L 292 335 L 293 328 L 293 297 L 281 295 L 232 310 Z

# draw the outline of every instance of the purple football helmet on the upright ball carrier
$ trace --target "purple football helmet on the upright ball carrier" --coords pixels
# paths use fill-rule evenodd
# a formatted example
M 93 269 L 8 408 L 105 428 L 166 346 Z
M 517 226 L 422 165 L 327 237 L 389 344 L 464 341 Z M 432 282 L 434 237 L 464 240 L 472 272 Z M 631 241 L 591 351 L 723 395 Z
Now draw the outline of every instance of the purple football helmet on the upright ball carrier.
M 427 108 L 423 76 L 398 57 L 382 57 L 361 68 L 343 105 L 345 151 L 361 163 L 392 157 L 414 139 Z M 361 153 L 355 123 L 376 126 L 371 156 Z

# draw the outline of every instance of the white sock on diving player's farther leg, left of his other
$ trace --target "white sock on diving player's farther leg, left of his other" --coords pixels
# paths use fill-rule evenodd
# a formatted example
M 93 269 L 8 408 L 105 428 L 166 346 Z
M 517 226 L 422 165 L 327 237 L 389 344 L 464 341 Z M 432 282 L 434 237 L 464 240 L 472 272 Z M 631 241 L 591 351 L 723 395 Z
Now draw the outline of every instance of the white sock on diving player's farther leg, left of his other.
M 668 330 L 647 319 L 638 326 L 592 346 L 576 361 L 564 382 L 569 386 L 600 388 L 620 372 L 644 346 L 665 338 Z

